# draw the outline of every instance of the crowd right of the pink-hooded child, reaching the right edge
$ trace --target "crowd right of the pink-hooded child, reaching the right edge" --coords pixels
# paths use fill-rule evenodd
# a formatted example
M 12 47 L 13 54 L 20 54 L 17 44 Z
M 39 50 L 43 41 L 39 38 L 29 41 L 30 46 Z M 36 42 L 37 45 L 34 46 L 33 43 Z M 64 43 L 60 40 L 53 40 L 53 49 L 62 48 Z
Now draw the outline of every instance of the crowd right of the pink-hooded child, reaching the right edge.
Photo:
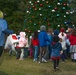
M 48 59 L 54 61 L 54 69 L 57 70 L 59 60 L 63 62 L 70 58 L 76 62 L 76 28 L 68 26 L 67 30 L 53 30 L 42 25 L 40 32 L 34 32 L 31 39 L 31 50 L 34 50 L 34 61 L 47 62 Z M 39 54 L 39 55 L 38 55 Z M 38 59 L 39 56 L 39 59 Z

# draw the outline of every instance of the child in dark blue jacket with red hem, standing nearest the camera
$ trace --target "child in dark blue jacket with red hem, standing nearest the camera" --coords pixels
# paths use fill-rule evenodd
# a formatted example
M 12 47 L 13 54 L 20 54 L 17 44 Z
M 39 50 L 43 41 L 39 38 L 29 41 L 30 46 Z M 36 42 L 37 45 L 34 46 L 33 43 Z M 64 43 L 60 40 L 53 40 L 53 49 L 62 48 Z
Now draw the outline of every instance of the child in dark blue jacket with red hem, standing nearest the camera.
M 59 43 L 59 37 L 55 35 L 53 37 L 53 46 L 52 46 L 52 53 L 51 53 L 51 58 L 54 62 L 54 70 L 55 71 L 59 67 L 61 50 L 62 50 L 62 46 L 61 46 L 61 43 Z

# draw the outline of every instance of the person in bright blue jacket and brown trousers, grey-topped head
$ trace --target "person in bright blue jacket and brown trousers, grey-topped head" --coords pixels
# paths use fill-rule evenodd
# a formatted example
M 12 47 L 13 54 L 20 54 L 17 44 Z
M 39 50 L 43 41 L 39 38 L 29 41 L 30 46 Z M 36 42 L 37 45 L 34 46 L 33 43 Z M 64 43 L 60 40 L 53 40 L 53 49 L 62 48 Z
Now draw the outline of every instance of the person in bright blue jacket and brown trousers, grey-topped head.
M 38 34 L 38 40 L 39 40 L 39 63 L 41 62 L 47 62 L 45 58 L 45 54 L 47 51 L 47 41 L 50 41 L 46 32 L 46 27 L 42 25 L 40 27 L 40 33 Z

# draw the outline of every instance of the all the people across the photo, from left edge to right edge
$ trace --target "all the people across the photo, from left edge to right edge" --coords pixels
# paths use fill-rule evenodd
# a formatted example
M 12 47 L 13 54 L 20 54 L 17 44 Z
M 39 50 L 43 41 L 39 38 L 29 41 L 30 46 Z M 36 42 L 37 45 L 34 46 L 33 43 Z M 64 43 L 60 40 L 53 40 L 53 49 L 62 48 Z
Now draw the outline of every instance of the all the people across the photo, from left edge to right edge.
M 9 41 L 7 44 L 4 41 L 6 34 L 9 34 L 6 40 L 6 43 Z M 10 38 L 12 39 L 10 40 Z M 26 50 L 29 51 L 28 56 L 32 57 L 34 62 L 42 63 L 52 60 L 55 71 L 59 69 L 60 60 L 65 62 L 66 59 L 70 58 L 76 62 L 76 28 L 68 26 L 67 30 L 65 28 L 60 30 L 48 28 L 47 30 L 42 25 L 40 31 L 34 31 L 30 38 L 23 31 L 17 36 L 13 30 L 8 29 L 7 22 L 3 19 L 3 13 L 0 11 L 0 57 L 4 45 L 5 48 L 10 49 L 9 55 L 14 49 L 16 59 L 19 60 L 24 60 Z

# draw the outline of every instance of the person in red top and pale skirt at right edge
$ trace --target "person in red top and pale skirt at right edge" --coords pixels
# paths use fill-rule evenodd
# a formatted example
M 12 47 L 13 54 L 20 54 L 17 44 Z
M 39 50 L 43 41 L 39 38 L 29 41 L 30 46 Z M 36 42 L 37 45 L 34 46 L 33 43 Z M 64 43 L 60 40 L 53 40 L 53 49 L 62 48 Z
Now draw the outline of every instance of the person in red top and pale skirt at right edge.
M 72 61 L 76 61 L 76 28 L 73 28 L 71 35 L 69 36 L 70 41 L 70 53 Z

